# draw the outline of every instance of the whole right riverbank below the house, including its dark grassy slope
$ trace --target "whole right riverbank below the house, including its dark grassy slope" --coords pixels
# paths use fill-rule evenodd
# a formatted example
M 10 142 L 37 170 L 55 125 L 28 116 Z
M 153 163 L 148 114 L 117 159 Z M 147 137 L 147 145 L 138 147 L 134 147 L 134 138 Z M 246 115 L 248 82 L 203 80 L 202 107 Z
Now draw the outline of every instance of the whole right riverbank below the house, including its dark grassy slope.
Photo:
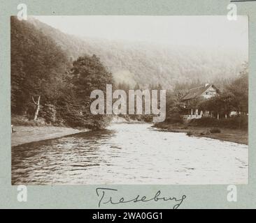
M 188 123 L 155 123 L 155 128 L 167 132 L 185 132 L 190 137 L 208 137 L 248 145 L 248 117 L 227 119 L 199 118 Z

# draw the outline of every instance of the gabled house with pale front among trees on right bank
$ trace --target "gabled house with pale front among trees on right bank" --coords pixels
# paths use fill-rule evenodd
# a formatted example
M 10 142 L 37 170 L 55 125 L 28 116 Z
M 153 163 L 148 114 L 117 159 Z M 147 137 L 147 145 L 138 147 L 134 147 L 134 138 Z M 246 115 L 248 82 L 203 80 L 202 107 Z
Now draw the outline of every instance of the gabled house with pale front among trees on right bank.
M 208 111 L 199 111 L 197 107 L 194 107 L 194 101 L 198 99 L 209 99 L 216 95 L 220 95 L 220 90 L 214 84 L 205 84 L 194 89 L 190 89 L 188 93 L 181 99 L 185 114 L 183 118 L 201 118 L 202 116 L 212 116 Z

